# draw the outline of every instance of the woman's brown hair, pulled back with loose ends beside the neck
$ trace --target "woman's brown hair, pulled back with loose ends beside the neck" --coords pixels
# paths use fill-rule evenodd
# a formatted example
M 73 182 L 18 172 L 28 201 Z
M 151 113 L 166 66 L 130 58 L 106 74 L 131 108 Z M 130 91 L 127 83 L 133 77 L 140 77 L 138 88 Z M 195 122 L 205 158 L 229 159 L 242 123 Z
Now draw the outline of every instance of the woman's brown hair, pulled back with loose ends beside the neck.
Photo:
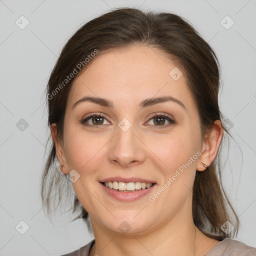
M 212 48 L 188 21 L 172 13 L 116 8 L 81 26 L 63 47 L 50 74 L 47 85 L 48 125 L 56 123 L 58 136 L 62 136 L 67 97 L 75 78 L 70 78 L 64 84 L 66 76 L 77 69 L 78 63 L 83 63 L 84 67 L 80 69 L 83 71 L 88 66 L 84 59 L 95 52 L 95 49 L 102 54 L 111 48 L 130 45 L 152 46 L 175 60 L 185 75 L 187 86 L 196 102 L 203 136 L 207 135 L 208 128 L 215 120 L 223 119 L 218 107 L 218 60 Z M 89 64 L 92 62 L 93 59 Z M 81 73 L 80 70 L 78 74 Z M 222 127 L 230 135 L 223 122 Z M 48 141 L 51 141 L 50 137 Z M 218 240 L 231 235 L 221 230 L 225 221 L 232 223 L 236 233 L 239 225 L 238 217 L 221 183 L 222 142 L 211 165 L 205 171 L 196 171 L 192 198 L 194 224 L 205 235 Z M 83 218 L 90 227 L 88 212 L 73 193 L 70 181 L 55 164 L 55 157 L 55 146 L 52 143 L 41 177 L 41 199 L 46 212 L 49 215 L 52 205 L 59 206 L 65 195 L 63 191 L 68 192 L 67 195 L 73 199 L 72 213 L 78 211 L 76 218 Z

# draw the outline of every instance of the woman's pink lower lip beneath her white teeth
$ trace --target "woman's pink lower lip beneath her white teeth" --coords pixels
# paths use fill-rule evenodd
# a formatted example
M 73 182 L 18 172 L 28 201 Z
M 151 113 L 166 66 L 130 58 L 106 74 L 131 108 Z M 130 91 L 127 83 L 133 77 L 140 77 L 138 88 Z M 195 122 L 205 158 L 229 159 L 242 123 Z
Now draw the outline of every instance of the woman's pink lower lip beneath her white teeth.
M 145 196 L 156 185 L 156 184 L 153 184 L 149 188 L 140 189 L 140 190 L 137 190 L 137 191 L 134 191 L 134 192 L 119 192 L 118 190 L 106 187 L 101 182 L 99 182 L 99 183 L 108 195 L 112 196 L 116 200 L 126 201 L 126 202 L 135 201 L 135 200 Z

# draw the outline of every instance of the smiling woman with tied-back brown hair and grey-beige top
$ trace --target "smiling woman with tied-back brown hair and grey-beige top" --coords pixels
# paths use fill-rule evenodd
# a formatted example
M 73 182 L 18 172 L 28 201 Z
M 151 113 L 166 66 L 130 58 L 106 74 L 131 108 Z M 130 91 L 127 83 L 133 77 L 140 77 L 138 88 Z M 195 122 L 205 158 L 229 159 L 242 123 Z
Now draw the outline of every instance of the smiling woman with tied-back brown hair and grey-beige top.
M 256 254 L 230 238 L 218 88 L 213 50 L 175 14 L 119 8 L 75 32 L 48 81 L 41 196 L 49 212 L 72 185 L 95 239 L 66 255 Z

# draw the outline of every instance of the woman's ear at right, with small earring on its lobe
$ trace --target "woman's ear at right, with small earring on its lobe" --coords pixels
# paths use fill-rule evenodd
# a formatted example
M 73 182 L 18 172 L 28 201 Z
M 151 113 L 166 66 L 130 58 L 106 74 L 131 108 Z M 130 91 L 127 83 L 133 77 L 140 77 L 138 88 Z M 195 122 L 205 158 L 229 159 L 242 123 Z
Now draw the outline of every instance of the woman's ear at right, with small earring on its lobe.
M 198 171 L 205 170 L 205 167 L 201 162 L 209 166 L 211 162 L 215 159 L 222 136 L 223 136 L 223 128 L 222 128 L 221 121 L 216 120 L 214 121 L 211 127 L 209 136 L 207 136 L 203 140 L 202 147 L 201 147 L 201 155 L 198 158 L 196 170 Z

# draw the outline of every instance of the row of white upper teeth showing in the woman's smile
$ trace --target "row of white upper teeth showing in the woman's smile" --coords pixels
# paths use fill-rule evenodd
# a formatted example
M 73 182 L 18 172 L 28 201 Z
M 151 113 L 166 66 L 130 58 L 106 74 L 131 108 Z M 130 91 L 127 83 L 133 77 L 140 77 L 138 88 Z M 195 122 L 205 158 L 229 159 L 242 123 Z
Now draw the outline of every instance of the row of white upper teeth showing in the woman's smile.
M 139 190 L 139 189 L 145 189 L 145 188 L 149 188 L 150 186 L 152 186 L 152 183 L 145 183 L 145 182 L 117 182 L 117 181 L 108 181 L 108 182 L 104 182 L 104 185 L 106 187 L 115 189 L 115 190 L 128 190 L 128 191 L 135 191 L 135 190 Z

